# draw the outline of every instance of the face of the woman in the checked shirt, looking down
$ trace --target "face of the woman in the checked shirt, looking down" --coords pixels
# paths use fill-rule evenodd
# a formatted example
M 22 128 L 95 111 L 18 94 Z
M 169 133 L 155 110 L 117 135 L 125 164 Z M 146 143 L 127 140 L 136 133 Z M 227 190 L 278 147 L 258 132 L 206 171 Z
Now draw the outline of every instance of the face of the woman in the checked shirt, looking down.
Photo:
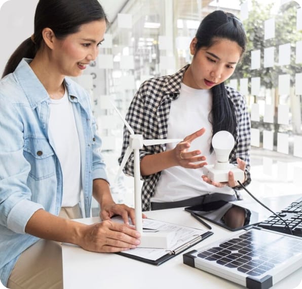
M 190 45 L 193 56 L 184 74 L 183 83 L 196 89 L 209 89 L 232 76 L 240 60 L 242 48 L 229 39 L 217 39 L 208 48 L 195 49 L 197 39 Z

